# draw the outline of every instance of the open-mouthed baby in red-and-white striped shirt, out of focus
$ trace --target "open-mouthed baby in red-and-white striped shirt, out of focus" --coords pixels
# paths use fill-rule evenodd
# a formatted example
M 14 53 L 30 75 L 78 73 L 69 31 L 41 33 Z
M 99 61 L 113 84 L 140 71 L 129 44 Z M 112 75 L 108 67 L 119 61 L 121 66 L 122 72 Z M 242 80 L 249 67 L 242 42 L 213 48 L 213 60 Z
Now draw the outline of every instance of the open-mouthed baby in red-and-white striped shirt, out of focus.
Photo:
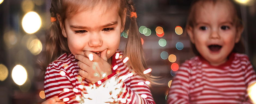
M 243 25 L 231 0 L 195 0 L 186 30 L 197 56 L 172 81 L 169 104 L 252 103 L 248 86 L 256 75 L 241 48 Z M 239 48 L 240 47 L 240 48 Z

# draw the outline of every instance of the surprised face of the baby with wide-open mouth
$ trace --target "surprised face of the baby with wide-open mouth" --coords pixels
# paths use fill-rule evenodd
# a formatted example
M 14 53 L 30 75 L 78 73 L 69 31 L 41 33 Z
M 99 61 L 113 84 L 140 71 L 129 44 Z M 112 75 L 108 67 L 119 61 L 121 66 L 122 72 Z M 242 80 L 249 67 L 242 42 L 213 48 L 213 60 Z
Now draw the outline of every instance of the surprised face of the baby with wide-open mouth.
M 231 2 L 204 2 L 195 6 L 195 24 L 188 28 L 191 42 L 211 65 L 225 63 L 242 32 L 236 29 Z

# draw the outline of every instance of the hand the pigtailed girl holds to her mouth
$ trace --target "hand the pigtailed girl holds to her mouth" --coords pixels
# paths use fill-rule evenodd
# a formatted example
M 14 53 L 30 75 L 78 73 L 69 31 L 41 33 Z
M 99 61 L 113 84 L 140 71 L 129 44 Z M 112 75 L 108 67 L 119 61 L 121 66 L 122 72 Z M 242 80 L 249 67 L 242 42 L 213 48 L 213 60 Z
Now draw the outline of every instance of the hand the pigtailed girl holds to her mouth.
M 93 60 L 90 61 L 89 54 L 93 55 Z M 90 80 L 92 83 L 95 83 L 104 77 L 112 74 L 112 69 L 108 63 L 107 49 L 100 53 L 100 57 L 90 51 L 85 51 L 84 55 L 76 55 L 75 58 L 78 61 L 78 66 L 80 76 Z M 90 56 L 91 56 L 90 55 Z

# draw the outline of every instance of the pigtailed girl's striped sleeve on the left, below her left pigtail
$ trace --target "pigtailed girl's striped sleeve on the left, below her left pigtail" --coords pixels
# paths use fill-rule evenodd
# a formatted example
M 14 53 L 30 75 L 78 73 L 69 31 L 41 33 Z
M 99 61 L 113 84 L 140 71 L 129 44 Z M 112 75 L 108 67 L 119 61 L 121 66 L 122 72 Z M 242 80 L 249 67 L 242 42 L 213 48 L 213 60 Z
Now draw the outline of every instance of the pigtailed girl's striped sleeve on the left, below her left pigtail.
M 65 76 L 61 76 L 60 72 L 65 72 Z M 74 87 L 72 83 L 75 83 L 75 77 L 70 77 L 71 71 L 65 70 L 60 63 L 51 63 L 45 72 L 44 79 L 44 91 L 46 99 L 58 96 L 60 100 L 63 98 L 69 98 L 69 104 L 77 104 L 78 101 L 75 100 L 75 93 L 73 91 L 64 92 L 64 88 L 72 90 Z

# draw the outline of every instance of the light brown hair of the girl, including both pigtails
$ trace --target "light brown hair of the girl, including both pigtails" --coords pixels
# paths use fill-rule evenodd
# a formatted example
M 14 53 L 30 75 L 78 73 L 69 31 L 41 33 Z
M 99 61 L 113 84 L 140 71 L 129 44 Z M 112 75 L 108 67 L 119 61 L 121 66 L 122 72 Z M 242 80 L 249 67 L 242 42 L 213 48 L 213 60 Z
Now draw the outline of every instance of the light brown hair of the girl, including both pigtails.
M 124 50 L 124 56 L 129 57 L 129 66 L 134 69 L 136 73 L 144 77 L 146 80 L 151 81 L 152 78 L 150 77 L 150 74 L 143 74 L 143 71 L 147 69 L 147 65 L 144 58 L 140 34 L 138 32 L 136 17 L 130 18 L 130 12 L 136 12 L 132 0 L 52 0 L 50 8 L 51 17 L 57 18 L 59 16 L 58 19 L 60 21 L 57 19 L 57 21 L 52 22 L 50 28 L 46 32 L 46 57 L 44 62 L 39 62 L 42 69 L 45 71 L 48 64 L 56 60 L 61 54 L 71 53 L 68 48 L 67 38 L 62 35 L 65 30 L 61 30 L 61 27 L 65 28 L 65 19 L 71 18 L 72 15 L 75 15 L 78 12 L 91 9 L 99 3 L 107 5 L 108 8 L 111 8 L 111 6 L 117 6 L 122 24 L 124 23 L 122 18 L 124 18 L 124 16 L 129 17 L 126 18 L 130 19 L 130 26 L 125 27 L 129 29 L 129 33 L 126 48 Z M 124 14 L 126 9 L 127 12 Z

